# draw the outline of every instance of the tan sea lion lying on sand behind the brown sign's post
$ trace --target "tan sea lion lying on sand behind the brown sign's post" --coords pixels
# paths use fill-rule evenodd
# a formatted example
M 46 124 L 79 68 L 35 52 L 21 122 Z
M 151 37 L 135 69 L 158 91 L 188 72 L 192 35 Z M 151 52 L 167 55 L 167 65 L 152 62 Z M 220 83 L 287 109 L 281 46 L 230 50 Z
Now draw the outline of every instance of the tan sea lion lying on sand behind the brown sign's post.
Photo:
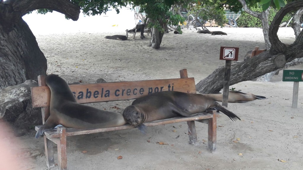
M 215 101 L 222 101 L 223 94 L 205 94 Z M 228 102 L 229 103 L 245 103 L 255 99 L 266 99 L 264 96 L 257 96 L 252 93 L 244 93 L 240 91 L 229 91 L 228 92 Z

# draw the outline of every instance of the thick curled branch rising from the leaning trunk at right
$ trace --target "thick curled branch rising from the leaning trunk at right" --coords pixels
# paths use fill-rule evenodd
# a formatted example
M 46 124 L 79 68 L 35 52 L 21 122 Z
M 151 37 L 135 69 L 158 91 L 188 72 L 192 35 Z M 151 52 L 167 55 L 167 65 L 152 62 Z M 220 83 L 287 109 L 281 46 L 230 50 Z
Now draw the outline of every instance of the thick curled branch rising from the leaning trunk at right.
M 275 15 L 275 18 L 272 20 L 271 25 L 269 27 L 268 33 L 268 38 L 271 43 L 270 52 L 272 54 L 285 53 L 286 45 L 279 40 L 277 34 L 279 25 L 288 12 L 298 10 L 301 7 L 303 7 L 303 0 L 294 1 L 286 4 L 285 7 L 281 8 Z

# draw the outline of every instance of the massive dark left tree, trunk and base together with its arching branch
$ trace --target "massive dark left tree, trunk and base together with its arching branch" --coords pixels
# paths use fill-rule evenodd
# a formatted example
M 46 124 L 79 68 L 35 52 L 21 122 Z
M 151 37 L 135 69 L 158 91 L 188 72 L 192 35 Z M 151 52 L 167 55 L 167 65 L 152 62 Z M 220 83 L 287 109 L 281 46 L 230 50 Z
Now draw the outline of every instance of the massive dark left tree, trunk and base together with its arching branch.
M 46 58 L 32 31 L 22 19 L 28 12 L 43 8 L 61 12 L 74 21 L 79 18 L 80 7 L 68 0 L 0 1 L 0 89 L 28 79 L 35 80 L 39 74 L 46 74 Z M 6 119 L 17 125 L 26 121 L 24 117 L 31 116 L 28 121 L 34 123 L 32 119 L 37 118 L 38 112 L 41 113 L 39 110 L 32 109 L 31 100 L 25 100 L 2 110 L 1 117 L 5 111 Z

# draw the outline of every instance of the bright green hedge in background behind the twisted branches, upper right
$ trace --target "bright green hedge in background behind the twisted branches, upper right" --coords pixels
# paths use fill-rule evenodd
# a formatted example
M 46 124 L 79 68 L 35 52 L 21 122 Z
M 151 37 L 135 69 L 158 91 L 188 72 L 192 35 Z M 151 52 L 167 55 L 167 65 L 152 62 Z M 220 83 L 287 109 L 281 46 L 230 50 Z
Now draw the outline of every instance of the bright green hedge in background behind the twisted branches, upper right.
M 262 12 L 262 6 L 259 5 L 257 7 L 251 7 L 252 11 Z M 277 14 L 278 10 L 271 8 L 269 11 L 268 16 L 268 24 L 271 24 L 271 21 L 274 19 L 275 15 Z M 291 18 L 290 14 L 285 15 L 281 23 L 288 22 Z M 238 27 L 262 27 L 261 20 L 259 18 L 253 17 L 247 14 L 245 11 L 241 12 L 241 16 L 237 20 Z

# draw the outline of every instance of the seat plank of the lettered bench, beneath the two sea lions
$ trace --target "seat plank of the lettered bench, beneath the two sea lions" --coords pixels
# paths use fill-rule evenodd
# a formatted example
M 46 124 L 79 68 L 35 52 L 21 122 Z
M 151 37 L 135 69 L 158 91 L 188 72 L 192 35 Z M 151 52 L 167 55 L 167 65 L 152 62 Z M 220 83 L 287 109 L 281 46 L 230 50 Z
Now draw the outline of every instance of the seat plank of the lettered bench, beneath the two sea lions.
M 217 117 L 221 116 L 221 113 L 216 114 Z M 198 116 L 191 116 L 191 117 L 173 117 L 169 119 L 162 119 L 162 120 L 155 120 L 152 122 L 144 123 L 145 126 L 155 126 L 155 125 L 164 125 L 169 123 L 178 123 L 178 122 L 186 122 L 191 120 L 201 120 L 201 119 L 210 119 L 212 118 L 212 114 L 205 113 L 203 115 Z M 35 130 L 37 131 L 41 126 L 36 126 Z M 108 132 L 114 130 L 122 130 L 122 129 L 132 129 L 134 127 L 130 125 L 123 125 L 123 126 L 115 126 L 115 127 L 106 127 L 106 128 L 98 128 L 98 129 L 77 129 L 77 128 L 66 128 L 66 136 L 74 136 L 74 135 L 83 135 L 89 133 L 98 133 L 98 132 Z M 60 134 L 58 134 L 57 129 L 52 129 L 44 132 L 44 135 L 51 139 L 51 138 L 58 138 Z

